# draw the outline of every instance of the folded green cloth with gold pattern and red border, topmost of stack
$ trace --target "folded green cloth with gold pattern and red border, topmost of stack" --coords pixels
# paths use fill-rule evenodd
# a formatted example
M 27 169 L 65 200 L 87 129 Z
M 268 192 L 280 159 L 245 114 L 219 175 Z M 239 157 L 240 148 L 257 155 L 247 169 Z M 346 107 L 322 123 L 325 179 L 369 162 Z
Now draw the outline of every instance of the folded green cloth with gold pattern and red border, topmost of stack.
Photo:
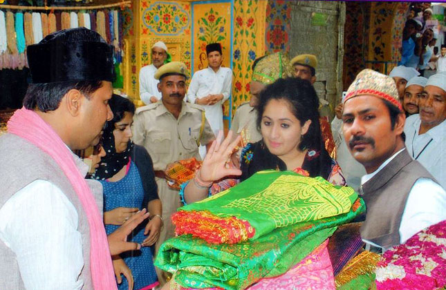
M 292 171 L 259 171 L 248 180 L 172 215 L 178 235 L 210 243 L 257 239 L 270 231 L 350 211 L 357 194 L 322 177 Z

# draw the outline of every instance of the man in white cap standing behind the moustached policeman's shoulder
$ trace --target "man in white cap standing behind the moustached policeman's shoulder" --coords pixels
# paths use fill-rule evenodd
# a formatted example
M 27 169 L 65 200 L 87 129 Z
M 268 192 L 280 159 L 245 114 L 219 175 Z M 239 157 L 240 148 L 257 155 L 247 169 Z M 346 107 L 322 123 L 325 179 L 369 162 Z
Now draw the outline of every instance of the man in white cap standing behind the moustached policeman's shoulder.
M 162 66 L 167 59 L 167 46 L 164 42 L 158 41 L 151 47 L 151 61 L 149 66 L 144 66 L 140 70 L 140 99 L 144 104 L 156 103 L 161 99 L 158 90 L 158 79 L 154 78 L 156 70 Z

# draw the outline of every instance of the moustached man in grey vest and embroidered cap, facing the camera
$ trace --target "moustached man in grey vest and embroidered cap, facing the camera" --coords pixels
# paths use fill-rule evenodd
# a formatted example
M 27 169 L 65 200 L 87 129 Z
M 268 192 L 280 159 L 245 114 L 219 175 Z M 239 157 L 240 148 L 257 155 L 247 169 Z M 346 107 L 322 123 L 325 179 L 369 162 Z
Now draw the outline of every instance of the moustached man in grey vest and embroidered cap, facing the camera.
M 446 220 L 445 190 L 405 148 L 405 114 L 391 77 L 362 70 L 347 90 L 342 122 L 349 150 L 367 173 L 360 187 L 364 242 L 382 251 Z

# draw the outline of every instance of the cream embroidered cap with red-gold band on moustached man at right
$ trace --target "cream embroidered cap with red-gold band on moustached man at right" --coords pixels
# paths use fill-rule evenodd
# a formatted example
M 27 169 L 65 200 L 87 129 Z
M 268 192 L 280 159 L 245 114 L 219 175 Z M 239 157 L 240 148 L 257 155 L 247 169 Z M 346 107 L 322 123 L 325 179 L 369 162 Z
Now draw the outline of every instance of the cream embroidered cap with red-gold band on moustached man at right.
M 355 80 L 350 85 L 349 90 L 347 90 L 344 104 L 352 97 L 362 95 L 372 95 L 374 97 L 385 99 L 402 111 L 395 81 L 388 75 L 383 75 L 382 73 L 375 72 L 375 70 L 369 68 L 362 70 L 357 74 Z

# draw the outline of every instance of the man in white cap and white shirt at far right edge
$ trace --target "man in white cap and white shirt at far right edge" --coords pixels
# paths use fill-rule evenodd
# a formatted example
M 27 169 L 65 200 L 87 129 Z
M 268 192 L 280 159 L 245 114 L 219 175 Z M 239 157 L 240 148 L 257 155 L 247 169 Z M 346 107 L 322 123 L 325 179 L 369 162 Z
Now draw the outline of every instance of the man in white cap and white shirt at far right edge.
M 418 99 L 419 114 L 405 124 L 409 154 L 446 188 L 446 75 L 429 77 Z

